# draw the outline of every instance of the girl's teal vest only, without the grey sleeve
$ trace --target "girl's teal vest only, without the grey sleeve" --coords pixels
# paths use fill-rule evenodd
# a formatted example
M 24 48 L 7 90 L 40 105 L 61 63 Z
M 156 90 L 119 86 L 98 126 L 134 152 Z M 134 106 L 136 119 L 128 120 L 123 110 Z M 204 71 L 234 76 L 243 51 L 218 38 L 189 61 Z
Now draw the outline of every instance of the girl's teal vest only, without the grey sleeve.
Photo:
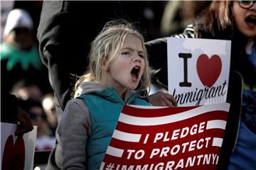
M 125 104 L 149 105 L 138 97 L 139 93 L 132 94 L 127 103 L 124 103 L 112 87 L 80 96 L 85 101 L 91 118 L 92 133 L 88 137 L 86 148 L 87 169 L 100 168 L 123 106 Z

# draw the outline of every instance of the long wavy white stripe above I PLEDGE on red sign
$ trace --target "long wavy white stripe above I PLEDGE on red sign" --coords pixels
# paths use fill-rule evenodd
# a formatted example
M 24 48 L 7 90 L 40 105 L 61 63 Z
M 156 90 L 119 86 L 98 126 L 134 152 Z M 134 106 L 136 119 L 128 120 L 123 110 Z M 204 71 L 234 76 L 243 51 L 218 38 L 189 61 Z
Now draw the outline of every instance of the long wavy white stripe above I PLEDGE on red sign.
M 164 125 L 167 123 L 174 123 L 181 120 L 186 120 L 188 118 L 193 118 L 197 115 L 207 113 L 210 111 L 229 111 L 230 103 L 218 103 L 214 105 L 204 105 L 198 108 L 193 108 L 190 111 L 184 111 L 183 113 L 177 113 L 175 115 L 166 115 L 154 118 L 142 118 L 132 115 L 126 115 L 121 113 L 119 116 L 119 121 L 122 123 L 127 123 L 130 125 Z

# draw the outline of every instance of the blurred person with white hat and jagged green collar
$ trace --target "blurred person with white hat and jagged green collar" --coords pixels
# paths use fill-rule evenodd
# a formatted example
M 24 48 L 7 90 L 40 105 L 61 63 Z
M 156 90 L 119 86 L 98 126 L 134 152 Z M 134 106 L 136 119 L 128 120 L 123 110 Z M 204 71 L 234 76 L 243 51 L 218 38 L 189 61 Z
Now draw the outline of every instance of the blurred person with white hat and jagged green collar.
M 2 4 L 2 2 L 1 2 Z M 30 79 L 49 92 L 46 68 L 40 60 L 28 11 L 15 8 L 6 18 L 1 54 L 1 91 L 10 91 L 20 79 Z

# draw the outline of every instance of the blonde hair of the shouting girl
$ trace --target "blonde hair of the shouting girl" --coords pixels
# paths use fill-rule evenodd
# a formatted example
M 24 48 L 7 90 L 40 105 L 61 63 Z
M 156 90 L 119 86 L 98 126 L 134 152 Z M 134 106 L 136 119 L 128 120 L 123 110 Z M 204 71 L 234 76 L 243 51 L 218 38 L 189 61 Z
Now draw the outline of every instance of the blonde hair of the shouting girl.
M 80 95 L 79 86 L 83 81 L 94 81 L 98 84 L 105 85 L 107 78 L 107 67 L 111 62 L 117 60 L 121 54 L 124 40 L 127 35 L 134 35 L 142 41 L 142 48 L 144 51 L 145 69 L 140 81 L 139 90 L 149 93 L 150 89 L 150 76 L 149 76 L 149 62 L 147 59 L 146 47 L 144 45 L 144 38 L 139 30 L 125 21 L 110 21 L 106 23 L 102 31 L 92 41 L 89 53 L 89 72 L 83 74 L 75 84 L 75 96 Z

